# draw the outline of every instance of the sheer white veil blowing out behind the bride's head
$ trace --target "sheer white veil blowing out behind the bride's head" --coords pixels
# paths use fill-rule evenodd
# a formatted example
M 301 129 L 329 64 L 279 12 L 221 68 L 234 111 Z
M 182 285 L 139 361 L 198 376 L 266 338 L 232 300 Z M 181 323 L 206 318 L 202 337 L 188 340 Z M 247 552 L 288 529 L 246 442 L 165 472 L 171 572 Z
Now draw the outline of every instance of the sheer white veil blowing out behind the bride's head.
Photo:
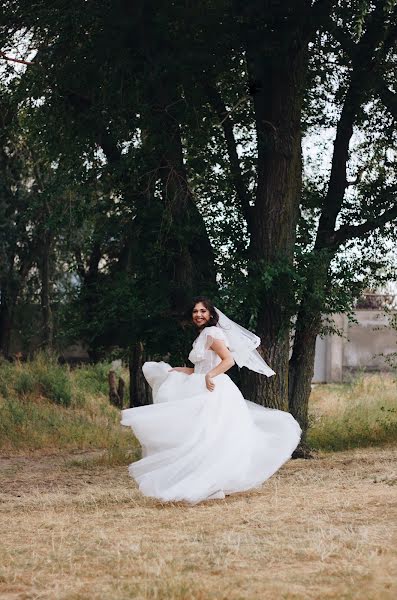
M 273 369 L 269 367 L 256 350 L 261 343 L 260 338 L 229 319 L 219 308 L 215 307 L 215 310 L 219 315 L 218 327 L 222 329 L 227 337 L 229 349 L 236 364 L 240 368 L 247 367 L 247 369 L 267 377 L 275 375 Z

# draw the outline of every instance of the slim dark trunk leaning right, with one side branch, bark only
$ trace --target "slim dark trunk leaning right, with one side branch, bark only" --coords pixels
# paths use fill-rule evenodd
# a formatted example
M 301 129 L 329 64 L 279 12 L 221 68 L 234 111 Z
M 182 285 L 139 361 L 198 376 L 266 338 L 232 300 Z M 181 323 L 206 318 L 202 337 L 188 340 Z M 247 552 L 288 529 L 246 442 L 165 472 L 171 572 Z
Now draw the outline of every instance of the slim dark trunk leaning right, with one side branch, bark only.
M 376 84 L 377 61 L 381 52 L 379 45 L 387 40 L 385 26 L 385 0 L 380 1 L 368 17 L 365 33 L 354 48 L 352 72 L 343 108 L 336 129 L 332 166 L 327 194 L 317 228 L 312 268 L 301 300 L 295 324 L 293 352 L 289 366 L 289 408 L 302 429 L 301 450 L 305 450 L 308 428 L 308 405 L 314 370 L 315 343 L 321 331 L 321 317 L 325 305 L 329 267 L 341 243 L 349 235 L 359 235 L 375 229 L 383 219 L 394 218 L 394 207 L 385 215 L 363 225 L 342 227 L 335 231 L 338 215 L 342 209 L 347 182 L 349 144 L 361 104 L 368 90 Z M 318 290 L 321 294 L 318 295 Z

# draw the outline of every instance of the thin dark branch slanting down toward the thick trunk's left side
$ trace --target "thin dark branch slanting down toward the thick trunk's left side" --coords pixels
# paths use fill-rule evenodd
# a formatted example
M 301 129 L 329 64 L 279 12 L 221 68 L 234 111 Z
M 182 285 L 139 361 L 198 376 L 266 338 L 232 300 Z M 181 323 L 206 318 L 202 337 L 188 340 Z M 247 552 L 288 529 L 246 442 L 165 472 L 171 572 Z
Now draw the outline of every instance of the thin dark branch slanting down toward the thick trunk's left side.
M 215 113 L 218 115 L 220 125 L 222 125 L 223 128 L 234 188 L 240 202 L 242 213 L 247 221 L 248 228 L 250 229 L 252 207 L 249 203 L 249 193 L 244 181 L 244 176 L 241 171 L 240 161 L 237 154 L 237 144 L 233 132 L 233 121 L 230 116 L 230 112 L 227 110 L 225 103 L 223 102 L 221 94 L 216 88 L 216 85 L 209 83 L 206 84 L 205 92 L 213 109 L 215 110 Z

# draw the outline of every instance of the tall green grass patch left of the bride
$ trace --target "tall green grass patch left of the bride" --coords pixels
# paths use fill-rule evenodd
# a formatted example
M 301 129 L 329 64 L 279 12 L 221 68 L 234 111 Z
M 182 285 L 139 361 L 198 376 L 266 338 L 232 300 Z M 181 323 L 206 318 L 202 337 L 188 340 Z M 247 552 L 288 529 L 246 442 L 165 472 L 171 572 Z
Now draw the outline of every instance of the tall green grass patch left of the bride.
M 131 430 L 109 403 L 109 369 L 100 363 L 71 370 L 46 353 L 26 363 L 1 361 L 0 449 L 106 449 L 101 460 L 113 464 L 136 453 Z

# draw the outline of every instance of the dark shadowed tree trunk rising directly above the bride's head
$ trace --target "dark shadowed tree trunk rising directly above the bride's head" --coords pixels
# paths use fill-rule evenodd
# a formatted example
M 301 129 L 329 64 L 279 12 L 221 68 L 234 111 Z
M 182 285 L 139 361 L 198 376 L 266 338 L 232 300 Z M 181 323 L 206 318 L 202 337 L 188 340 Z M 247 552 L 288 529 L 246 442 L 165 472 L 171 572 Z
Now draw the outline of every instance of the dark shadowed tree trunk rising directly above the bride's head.
M 148 95 L 148 143 L 155 152 L 164 205 L 160 243 L 173 286 L 172 308 L 184 312 L 192 295 L 216 289 L 214 254 L 189 188 L 179 115 L 170 108 L 178 105 L 181 96 L 164 77 L 149 86 Z

